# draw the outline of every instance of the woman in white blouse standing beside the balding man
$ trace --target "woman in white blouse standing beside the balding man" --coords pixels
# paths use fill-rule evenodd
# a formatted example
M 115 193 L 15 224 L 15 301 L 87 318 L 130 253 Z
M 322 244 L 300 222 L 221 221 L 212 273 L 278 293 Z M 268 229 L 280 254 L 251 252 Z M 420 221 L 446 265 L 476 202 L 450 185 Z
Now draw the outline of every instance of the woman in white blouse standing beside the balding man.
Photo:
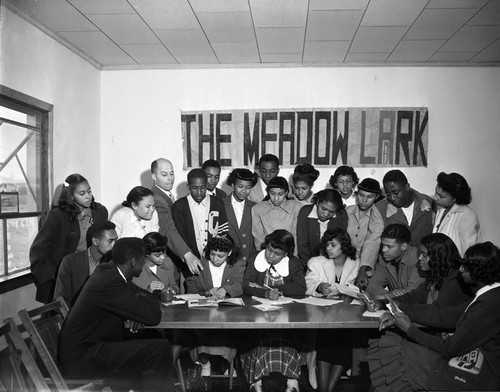
M 155 198 L 150 189 L 143 186 L 132 188 L 122 206 L 111 217 L 119 238 L 143 238 L 148 233 L 159 231 Z

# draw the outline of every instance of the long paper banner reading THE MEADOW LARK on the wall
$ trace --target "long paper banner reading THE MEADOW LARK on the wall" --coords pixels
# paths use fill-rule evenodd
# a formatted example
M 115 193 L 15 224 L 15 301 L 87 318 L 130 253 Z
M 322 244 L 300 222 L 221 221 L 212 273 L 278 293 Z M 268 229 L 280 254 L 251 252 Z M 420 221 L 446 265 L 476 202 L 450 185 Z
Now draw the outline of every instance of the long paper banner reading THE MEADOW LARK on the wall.
M 184 169 L 253 168 L 264 154 L 285 168 L 427 166 L 427 108 L 189 111 L 181 123 Z

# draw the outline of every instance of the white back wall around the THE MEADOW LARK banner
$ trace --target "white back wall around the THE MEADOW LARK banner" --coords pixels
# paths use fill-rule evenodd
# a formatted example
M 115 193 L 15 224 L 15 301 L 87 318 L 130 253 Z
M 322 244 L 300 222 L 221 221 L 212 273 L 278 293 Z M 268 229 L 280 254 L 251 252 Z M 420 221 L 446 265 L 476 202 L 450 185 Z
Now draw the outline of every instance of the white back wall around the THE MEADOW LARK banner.
M 405 168 L 410 184 L 433 194 L 440 171 L 473 189 L 485 239 L 500 244 L 500 68 L 269 68 L 101 72 L 102 201 L 112 209 L 157 157 L 182 171 L 181 110 L 429 108 L 427 168 Z M 316 190 L 334 168 L 322 169 Z M 357 169 L 381 180 L 389 168 Z M 291 170 L 282 171 L 286 176 Z M 224 171 L 223 177 L 227 175 Z M 176 189 L 184 194 L 184 186 Z

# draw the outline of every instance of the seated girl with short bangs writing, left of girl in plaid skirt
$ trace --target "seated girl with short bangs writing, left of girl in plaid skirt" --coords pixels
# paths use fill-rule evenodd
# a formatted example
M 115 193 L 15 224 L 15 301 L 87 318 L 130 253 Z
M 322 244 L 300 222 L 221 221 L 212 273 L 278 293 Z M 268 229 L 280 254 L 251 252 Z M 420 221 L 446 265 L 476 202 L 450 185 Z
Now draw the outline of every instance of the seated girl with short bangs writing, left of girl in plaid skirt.
M 188 294 L 205 295 L 213 299 L 238 297 L 243 294 L 242 281 L 245 262 L 238 260 L 238 248 L 229 234 L 208 240 L 203 270 L 199 275 L 186 278 Z M 236 355 L 232 336 L 220 331 L 195 331 L 192 335 L 196 346 L 190 350 L 194 367 L 189 369 L 191 385 L 200 385 L 202 391 L 210 390 L 210 356 L 220 355 L 231 363 Z

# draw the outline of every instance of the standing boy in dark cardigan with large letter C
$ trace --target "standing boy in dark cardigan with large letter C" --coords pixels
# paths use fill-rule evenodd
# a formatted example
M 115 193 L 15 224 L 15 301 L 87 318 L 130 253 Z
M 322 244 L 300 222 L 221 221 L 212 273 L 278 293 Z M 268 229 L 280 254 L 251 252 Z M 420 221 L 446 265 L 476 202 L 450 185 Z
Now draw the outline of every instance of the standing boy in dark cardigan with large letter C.
M 172 215 L 181 237 L 201 257 L 210 238 L 227 232 L 226 210 L 221 199 L 207 195 L 207 175 L 202 169 L 191 170 L 187 181 L 189 195 L 174 203 Z

